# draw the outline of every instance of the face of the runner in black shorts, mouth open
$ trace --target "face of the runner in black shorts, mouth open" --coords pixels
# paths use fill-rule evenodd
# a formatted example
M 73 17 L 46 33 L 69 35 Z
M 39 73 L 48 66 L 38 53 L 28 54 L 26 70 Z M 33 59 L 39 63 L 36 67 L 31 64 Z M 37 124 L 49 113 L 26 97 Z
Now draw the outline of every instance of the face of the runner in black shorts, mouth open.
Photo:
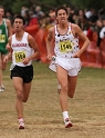
M 19 19 L 19 18 L 14 19 L 13 28 L 15 31 L 21 31 L 23 27 L 24 26 L 23 26 L 22 19 Z

